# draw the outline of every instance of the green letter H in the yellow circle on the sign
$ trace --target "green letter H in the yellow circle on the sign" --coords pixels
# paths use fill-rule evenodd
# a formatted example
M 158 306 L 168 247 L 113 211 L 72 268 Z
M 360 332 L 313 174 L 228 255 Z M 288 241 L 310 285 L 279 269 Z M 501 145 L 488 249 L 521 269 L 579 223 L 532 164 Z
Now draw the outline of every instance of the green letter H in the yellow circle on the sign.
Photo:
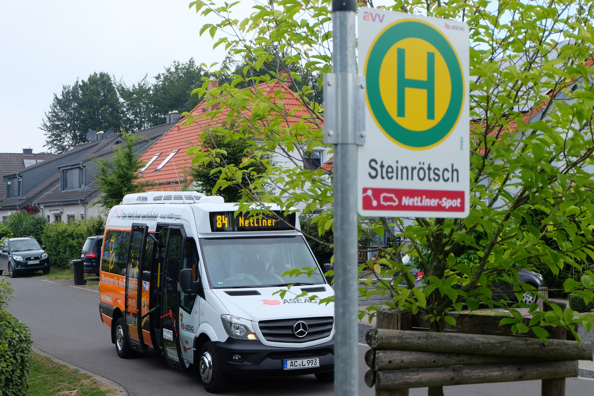
M 406 88 L 427 91 L 427 119 L 435 119 L 435 53 L 427 52 L 427 79 L 406 78 L 406 50 L 397 52 L 397 116 L 406 117 Z

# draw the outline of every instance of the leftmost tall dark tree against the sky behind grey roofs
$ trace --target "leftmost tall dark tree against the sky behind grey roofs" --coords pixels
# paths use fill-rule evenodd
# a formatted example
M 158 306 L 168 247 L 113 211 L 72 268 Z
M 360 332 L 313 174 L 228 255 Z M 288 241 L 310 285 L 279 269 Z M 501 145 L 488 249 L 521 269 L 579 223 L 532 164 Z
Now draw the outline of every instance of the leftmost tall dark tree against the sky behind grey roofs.
M 64 153 L 87 142 L 89 129 L 121 133 L 120 112 L 119 97 L 107 73 L 93 73 L 87 81 L 63 85 L 61 95 L 54 94 L 40 127 L 46 132 L 44 147 L 52 153 Z

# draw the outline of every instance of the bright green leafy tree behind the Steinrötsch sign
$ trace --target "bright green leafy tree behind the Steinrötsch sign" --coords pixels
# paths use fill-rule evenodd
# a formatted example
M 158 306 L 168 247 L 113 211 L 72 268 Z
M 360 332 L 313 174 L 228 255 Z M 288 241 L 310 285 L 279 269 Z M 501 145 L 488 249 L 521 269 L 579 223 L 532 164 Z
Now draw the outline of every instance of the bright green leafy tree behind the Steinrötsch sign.
M 204 24 L 201 33 L 209 31 L 213 37 L 219 34 L 214 45 L 225 43 L 230 53 L 240 59 L 251 62 L 255 58 L 255 69 L 274 60 L 285 65 L 284 69 L 298 64 L 308 74 L 321 75 L 331 71 L 329 4 L 328 0 L 273 0 L 258 4 L 243 20 L 233 16 L 234 4 L 194 1 L 190 5 L 203 16 L 218 15 L 219 22 Z M 514 309 L 525 305 L 494 300 L 489 287 L 496 281 L 507 281 L 514 284 L 516 296 L 536 293 L 529 285 L 518 284 L 517 271 L 532 270 L 532 262 L 539 261 L 557 274 L 564 264 L 579 269 L 587 256 L 594 256 L 594 67 L 590 46 L 594 9 L 582 0 L 536 0 L 529 4 L 406 0 L 385 8 L 467 23 L 473 76 L 470 215 L 465 219 L 361 218 L 359 233 L 374 240 L 377 251 L 388 258 L 377 265 L 378 272 L 379 264 L 388 267 L 377 274 L 384 293 L 391 290 L 394 294 L 388 305 L 413 313 L 424 312 L 431 319 L 431 330 L 439 332 L 446 322 L 455 324 L 445 313 L 462 309 L 459 298 L 466 300 L 470 310 L 483 302 L 510 309 L 513 318 L 504 319 L 504 323 L 513 324 L 514 331 L 531 329 L 546 339 L 544 325 L 563 326 L 579 339 L 575 325 L 581 322 L 589 328 L 594 316 L 570 309 L 565 313 L 556 309 L 545 316 L 532 304 L 529 312 L 534 319 L 527 327 Z M 560 33 L 563 42 L 557 41 Z M 324 145 L 322 109 L 308 99 L 311 89 L 307 85 L 297 94 L 310 116 L 287 127 L 283 120 L 292 115 L 284 110 L 279 94 L 267 96 L 263 91 L 236 88 L 246 78 L 255 85 L 274 78 L 251 77 L 245 72 L 232 77 L 231 83 L 208 91 L 213 98 L 209 103 L 229 108 L 239 129 L 244 131 L 242 138 L 249 144 L 284 148 L 287 156 L 295 152 L 299 156 Z M 290 78 L 300 77 L 292 72 Z M 321 89 L 319 79 L 317 84 Z M 206 94 L 206 85 L 197 93 Z M 249 118 L 241 113 L 248 108 L 252 109 Z M 205 117 L 220 111 L 213 110 Z M 228 131 L 228 136 L 232 134 L 235 132 Z M 207 157 L 210 153 L 201 155 Z M 319 224 L 320 230 L 331 229 L 332 189 L 322 172 L 270 165 L 258 177 L 268 179 L 290 198 L 283 201 L 271 195 L 264 201 L 242 190 L 247 195 L 242 197 L 241 210 L 257 214 L 267 212 L 270 203 L 286 210 L 302 205 L 306 212 L 324 210 L 312 221 Z M 252 202 L 256 202 L 257 208 Z M 538 227 L 530 224 L 533 208 L 546 215 Z M 414 222 L 411 224 L 410 220 Z M 479 243 L 475 240 L 476 232 L 483 235 Z M 385 234 L 392 246 L 397 245 L 396 235 L 412 243 L 384 248 L 380 239 Z M 554 241 L 554 246 L 546 241 Z M 476 261 L 469 264 L 456 257 L 455 252 L 469 249 L 475 249 Z M 426 259 L 423 251 L 431 253 L 431 259 Z M 402 271 L 404 253 L 418 258 L 420 269 L 426 274 L 425 289 L 414 287 L 408 271 Z M 371 262 L 361 269 L 369 265 Z M 382 280 L 392 274 L 399 274 L 394 284 L 405 281 L 407 287 L 393 288 Z M 594 273 L 584 271 L 582 283 L 566 280 L 564 289 L 579 293 L 586 302 L 592 300 Z M 366 293 L 366 288 L 362 287 L 361 292 Z M 369 307 L 368 313 L 372 316 L 379 308 Z M 429 394 L 441 395 L 443 390 L 429 388 Z

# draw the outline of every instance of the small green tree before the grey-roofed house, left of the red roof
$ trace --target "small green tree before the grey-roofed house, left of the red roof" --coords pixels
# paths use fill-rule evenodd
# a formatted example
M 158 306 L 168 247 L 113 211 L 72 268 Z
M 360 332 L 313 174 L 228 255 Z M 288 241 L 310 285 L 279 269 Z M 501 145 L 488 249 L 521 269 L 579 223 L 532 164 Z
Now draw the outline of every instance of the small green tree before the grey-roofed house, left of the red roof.
M 138 175 L 138 170 L 143 167 L 143 161 L 134 154 L 134 143 L 140 138 L 129 133 L 124 133 L 122 137 L 125 147 L 115 147 L 109 160 L 94 160 L 97 165 L 95 180 L 103 192 L 96 204 L 101 205 L 105 213 L 119 205 L 124 195 L 144 191 L 143 186 L 135 183 L 142 177 Z

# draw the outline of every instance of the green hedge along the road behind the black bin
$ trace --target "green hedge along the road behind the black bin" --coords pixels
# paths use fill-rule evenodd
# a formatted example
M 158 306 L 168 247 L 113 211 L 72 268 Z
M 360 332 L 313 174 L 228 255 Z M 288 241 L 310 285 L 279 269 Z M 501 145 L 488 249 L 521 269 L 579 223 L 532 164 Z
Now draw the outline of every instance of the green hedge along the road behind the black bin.
M 105 221 L 101 217 L 67 223 L 48 224 L 42 240 L 53 267 L 70 267 L 70 261 L 80 257 L 87 237 L 103 235 Z

